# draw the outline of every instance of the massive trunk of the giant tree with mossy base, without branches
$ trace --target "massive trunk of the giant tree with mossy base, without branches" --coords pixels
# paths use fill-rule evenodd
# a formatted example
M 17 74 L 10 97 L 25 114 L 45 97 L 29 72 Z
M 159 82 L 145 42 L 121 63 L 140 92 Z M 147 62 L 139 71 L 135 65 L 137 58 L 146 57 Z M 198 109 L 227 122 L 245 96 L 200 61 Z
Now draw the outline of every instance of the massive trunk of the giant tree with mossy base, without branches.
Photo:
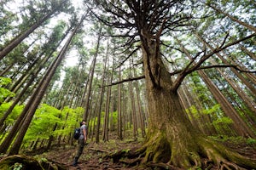
M 147 33 L 146 31 L 143 31 Z M 145 35 L 145 36 L 144 36 Z M 148 136 L 139 151 L 144 162 L 162 161 L 177 167 L 203 167 L 201 157 L 208 158 L 218 166 L 256 167 L 251 161 L 231 152 L 221 144 L 203 136 L 189 122 L 183 111 L 177 89 L 160 58 L 159 38 L 144 34 L 143 64 L 148 97 Z M 236 164 L 228 162 L 236 162 Z

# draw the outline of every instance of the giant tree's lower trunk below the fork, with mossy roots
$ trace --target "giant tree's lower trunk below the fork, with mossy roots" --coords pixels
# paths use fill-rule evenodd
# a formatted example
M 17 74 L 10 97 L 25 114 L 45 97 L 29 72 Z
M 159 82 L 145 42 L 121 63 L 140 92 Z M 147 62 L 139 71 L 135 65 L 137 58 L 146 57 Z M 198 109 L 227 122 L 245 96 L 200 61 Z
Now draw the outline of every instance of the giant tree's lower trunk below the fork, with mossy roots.
M 141 149 L 145 150 L 143 163 L 164 162 L 185 169 L 256 168 L 256 160 L 232 152 L 195 129 L 177 93 L 168 88 L 151 88 L 148 101 L 148 138 Z

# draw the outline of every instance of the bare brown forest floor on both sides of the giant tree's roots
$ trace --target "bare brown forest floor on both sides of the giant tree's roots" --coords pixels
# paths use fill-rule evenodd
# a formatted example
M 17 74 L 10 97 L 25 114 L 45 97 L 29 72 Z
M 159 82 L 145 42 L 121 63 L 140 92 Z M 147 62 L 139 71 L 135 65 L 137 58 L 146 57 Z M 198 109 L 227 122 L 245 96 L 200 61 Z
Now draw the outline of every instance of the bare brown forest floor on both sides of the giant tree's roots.
M 109 154 L 118 152 L 119 150 L 136 150 L 141 146 L 141 142 L 138 141 L 119 141 L 111 140 L 110 142 L 101 142 L 96 144 L 90 142 L 84 146 L 84 153 L 79 158 L 79 164 L 77 167 L 72 166 L 73 156 L 76 152 L 75 146 L 66 146 L 66 148 L 55 148 L 49 152 L 45 152 L 40 157 L 47 158 L 49 161 L 58 162 L 67 167 L 69 170 L 81 169 L 81 170 L 128 170 L 128 169 L 160 169 L 160 168 L 145 168 L 137 167 L 133 165 L 128 167 L 125 161 L 113 162 L 113 159 L 106 158 Z M 241 153 L 244 156 L 248 156 L 252 159 L 256 159 L 256 144 L 240 143 L 235 144 L 231 141 L 224 142 L 232 150 Z M 172 170 L 180 168 L 173 167 Z M 212 168 L 216 169 L 216 168 Z

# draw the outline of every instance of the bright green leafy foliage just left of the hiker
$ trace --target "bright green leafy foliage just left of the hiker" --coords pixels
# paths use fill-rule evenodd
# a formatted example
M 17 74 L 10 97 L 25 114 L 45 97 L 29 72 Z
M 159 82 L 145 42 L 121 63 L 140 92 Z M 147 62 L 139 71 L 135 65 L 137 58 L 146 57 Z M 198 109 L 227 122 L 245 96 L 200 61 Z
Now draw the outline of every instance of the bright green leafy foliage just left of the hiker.
M 24 143 L 27 145 L 36 138 L 49 139 L 49 136 L 69 135 L 75 127 L 78 127 L 78 117 L 82 117 L 83 113 L 84 108 L 81 107 L 76 109 L 64 107 L 60 111 L 50 105 L 40 105 L 26 132 Z

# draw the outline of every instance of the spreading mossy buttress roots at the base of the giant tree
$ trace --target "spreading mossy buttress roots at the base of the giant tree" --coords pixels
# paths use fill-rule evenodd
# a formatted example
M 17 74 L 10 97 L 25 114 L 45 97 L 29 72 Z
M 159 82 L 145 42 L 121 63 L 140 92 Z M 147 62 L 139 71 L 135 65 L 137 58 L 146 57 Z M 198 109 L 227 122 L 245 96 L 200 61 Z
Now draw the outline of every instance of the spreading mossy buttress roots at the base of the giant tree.
M 127 166 L 140 164 L 146 167 L 160 167 L 166 169 L 188 169 L 201 167 L 203 169 L 253 169 L 256 168 L 256 160 L 231 151 L 211 139 L 197 139 L 195 149 L 175 148 L 165 138 L 152 139 L 139 150 L 119 151 L 113 154 L 114 161 L 122 162 Z M 175 144 L 175 146 L 182 144 Z M 124 159 L 126 157 L 126 159 Z M 128 160 L 131 161 L 128 161 Z

